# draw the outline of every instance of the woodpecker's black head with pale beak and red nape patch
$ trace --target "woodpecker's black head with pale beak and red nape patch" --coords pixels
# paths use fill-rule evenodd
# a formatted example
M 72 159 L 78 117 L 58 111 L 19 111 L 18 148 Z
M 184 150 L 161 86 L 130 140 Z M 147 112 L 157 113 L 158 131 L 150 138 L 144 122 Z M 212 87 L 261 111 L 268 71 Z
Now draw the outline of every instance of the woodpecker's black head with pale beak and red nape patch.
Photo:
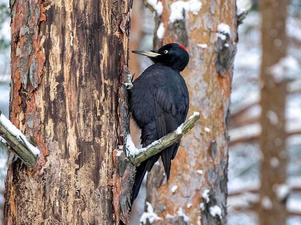
M 147 56 L 154 63 L 161 63 L 177 71 L 183 71 L 189 62 L 187 50 L 177 43 L 166 44 L 159 50 L 132 51 L 132 53 Z

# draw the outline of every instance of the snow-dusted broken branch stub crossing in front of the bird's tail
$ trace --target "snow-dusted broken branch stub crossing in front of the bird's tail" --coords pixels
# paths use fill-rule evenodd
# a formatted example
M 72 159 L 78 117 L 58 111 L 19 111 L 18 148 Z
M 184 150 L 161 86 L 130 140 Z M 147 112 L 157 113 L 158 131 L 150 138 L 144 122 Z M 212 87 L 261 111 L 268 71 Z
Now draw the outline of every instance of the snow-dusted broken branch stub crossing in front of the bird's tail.
M 139 165 L 151 156 L 161 152 L 164 148 L 176 143 L 185 133 L 194 127 L 199 118 L 200 113 L 194 112 L 193 115 L 189 117 L 187 121 L 182 123 L 175 131 L 141 149 L 135 147 L 131 136 L 128 134 L 125 146 L 127 158 L 129 158 L 134 165 Z

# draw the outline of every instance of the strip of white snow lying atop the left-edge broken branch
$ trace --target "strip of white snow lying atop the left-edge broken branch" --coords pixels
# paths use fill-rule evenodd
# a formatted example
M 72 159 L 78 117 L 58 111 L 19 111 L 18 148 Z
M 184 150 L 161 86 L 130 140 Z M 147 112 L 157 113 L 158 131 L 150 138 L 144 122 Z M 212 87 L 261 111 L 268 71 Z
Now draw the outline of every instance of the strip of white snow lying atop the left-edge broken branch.
M 32 144 L 30 144 L 25 138 L 24 134 L 18 128 L 16 128 L 12 124 L 12 122 L 10 122 L 10 120 L 6 118 L 3 114 L 0 115 L 0 122 L 10 133 L 16 136 L 20 142 L 27 146 L 34 155 L 40 156 L 40 150 L 37 147 L 34 147 Z

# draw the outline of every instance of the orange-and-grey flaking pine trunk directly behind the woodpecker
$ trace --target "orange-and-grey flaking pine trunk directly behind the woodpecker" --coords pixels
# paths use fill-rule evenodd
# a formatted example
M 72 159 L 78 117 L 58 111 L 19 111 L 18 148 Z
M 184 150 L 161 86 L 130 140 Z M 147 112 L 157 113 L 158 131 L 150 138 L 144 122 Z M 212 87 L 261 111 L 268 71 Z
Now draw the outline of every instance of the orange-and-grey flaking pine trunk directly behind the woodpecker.
M 199 111 L 201 118 L 182 138 L 168 183 L 162 166 L 155 165 L 149 173 L 146 201 L 162 218 L 153 224 L 226 224 L 236 5 L 234 0 L 202 1 L 198 12 L 184 9 L 184 18 L 171 22 L 172 2 L 162 1 L 156 27 L 163 22 L 166 32 L 154 45 L 177 42 L 187 48 L 190 61 L 182 75 L 190 95 L 188 116 Z M 198 7 L 197 3 L 190 10 Z

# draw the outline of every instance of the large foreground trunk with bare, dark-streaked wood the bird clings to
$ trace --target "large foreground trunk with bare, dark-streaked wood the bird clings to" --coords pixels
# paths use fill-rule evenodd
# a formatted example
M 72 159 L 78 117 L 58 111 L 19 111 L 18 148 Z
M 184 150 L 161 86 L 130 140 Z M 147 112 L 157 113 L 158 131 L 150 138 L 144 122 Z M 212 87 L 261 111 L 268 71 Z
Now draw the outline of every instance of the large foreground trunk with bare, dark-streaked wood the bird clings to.
M 15 0 L 10 120 L 41 150 L 8 165 L 5 224 L 114 224 L 126 1 Z

